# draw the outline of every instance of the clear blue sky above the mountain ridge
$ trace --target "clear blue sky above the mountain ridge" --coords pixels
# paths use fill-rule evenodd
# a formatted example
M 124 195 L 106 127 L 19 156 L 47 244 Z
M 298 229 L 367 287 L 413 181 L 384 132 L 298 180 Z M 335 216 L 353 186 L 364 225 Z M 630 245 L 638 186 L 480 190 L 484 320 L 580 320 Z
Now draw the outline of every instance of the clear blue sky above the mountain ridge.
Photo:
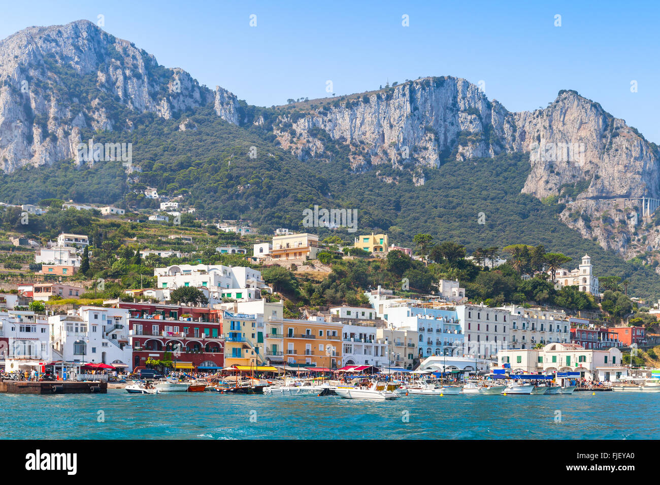
M 660 3 L 603 1 L 1 1 L 0 38 L 80 18 L 250 104 L 430 75 L 485 82 L 508 110 L 574 89 L 660 143 Z M 249 26 L 249 16 L 257 26 Z M 409 27 L 401 25 L 409 16 Z M 561 15 L 562 25 L 554 26 Z M 638 92 L 630 92 L 630 82 Z

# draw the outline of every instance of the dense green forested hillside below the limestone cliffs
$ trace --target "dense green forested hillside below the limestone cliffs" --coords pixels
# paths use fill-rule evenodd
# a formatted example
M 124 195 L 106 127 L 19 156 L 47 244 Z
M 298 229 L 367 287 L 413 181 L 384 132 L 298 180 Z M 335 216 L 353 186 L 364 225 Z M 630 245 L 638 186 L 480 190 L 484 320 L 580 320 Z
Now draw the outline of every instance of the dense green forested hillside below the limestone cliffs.
M 277 110 L 277 109 L 276 109 Z M 141 173 L 131 174 L 129 183 L 121 162 L 96 162 L 92 168 L 76 168 L 71 162 L 49 167 L 23 168 L 0 176 L 0 201 L 36 203 L 58 198 L 87 203 L 116 203 L 127 207 L 156 207 L 139 193 L 147 185 L 172 195 L 185 189 L 189 200 L 205 218 L 242 217 L 272 234 L 278 227 L 317 232 L 321 237 L 338 234 L 351 241 L 358 234 L 387 232 L 390 241 L 412 246 L 413 236 L 431 234 L 434 242 L 452 240 L 469 251 L 477 247 L 513 243 L 545 245 L 574 259 L 589 253 L 596 275 L 618 275 L 630 280 L 629 294 L 660 297 L 660 277 L 653 268 L 634 259 L 625 262 L 583 240 L 577 232 L 558 221 L 562 206 L 543 205 L 521 194 L 529 171 L 523 154 L 494 159 L 457 162 L 447 160 L 437 169 L 425 169 L 426 183 L 415 186 L 409 172 L 391 166 L 374 166 L 355 174 L 348 166 L 348 148 L 325 140 L 332 162 L 300 162 L 275 145 L 269 119 L 276 110 L 244 106 L 248 120 L 263 115 L 257 127 L 230 125 L 210 107 L 164 120 L 154 115 L 134 119 L 129 132 L 85 133 L 83 139 L 100 143 L 133 143 L 133 164 Z M 182 117 L 195 123 L 180 131 Z M 250 147 L 256 157 L 250 158 Z M 391 177 L 395 183 L 382 178 Z M 314 205 L 325 209 L 358 210 L 358 230 L 304 228 L 303 210 Z M 484 224 L 479 224 L 483 213 Z

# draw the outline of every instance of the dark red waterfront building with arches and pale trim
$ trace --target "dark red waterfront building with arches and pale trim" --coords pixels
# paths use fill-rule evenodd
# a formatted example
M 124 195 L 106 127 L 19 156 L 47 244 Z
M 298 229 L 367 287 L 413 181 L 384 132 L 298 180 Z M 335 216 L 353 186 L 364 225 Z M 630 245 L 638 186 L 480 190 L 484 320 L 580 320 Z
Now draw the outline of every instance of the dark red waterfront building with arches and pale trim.
M 120 303 L 129 310 L 133 369 L 148 358 L 161 360 L 172 352 L 175 370 L 214 372 L 224 366 L 220 310 L 150 303 Z

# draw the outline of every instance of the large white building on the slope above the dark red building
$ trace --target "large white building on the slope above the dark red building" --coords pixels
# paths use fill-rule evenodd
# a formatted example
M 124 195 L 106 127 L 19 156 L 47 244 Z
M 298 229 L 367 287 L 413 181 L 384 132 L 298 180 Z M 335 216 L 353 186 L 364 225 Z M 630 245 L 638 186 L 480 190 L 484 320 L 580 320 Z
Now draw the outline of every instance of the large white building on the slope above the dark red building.
M 221 302 L 222 298 L 235 300 L 261 299 L 261 290 L 272 292 L 261 278 L 261 271 L 248 267 L 224 265 L 172 265 L 154 269 L 158 277 L 158 288 L 169 290 L 183 286 L 205 289 L 211 300 Z

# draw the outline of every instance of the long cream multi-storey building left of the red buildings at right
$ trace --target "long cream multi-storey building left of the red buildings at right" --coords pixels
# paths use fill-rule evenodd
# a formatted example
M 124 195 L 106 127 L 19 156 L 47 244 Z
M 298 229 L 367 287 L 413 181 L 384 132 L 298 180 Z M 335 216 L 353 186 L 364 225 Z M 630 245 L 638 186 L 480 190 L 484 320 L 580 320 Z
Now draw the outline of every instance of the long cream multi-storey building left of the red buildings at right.
M 511 313 L 510 348 L 533 348 L 537 344 L 570 343 L 571 323 L 563 311 L 520 306 L 501 307 Z

